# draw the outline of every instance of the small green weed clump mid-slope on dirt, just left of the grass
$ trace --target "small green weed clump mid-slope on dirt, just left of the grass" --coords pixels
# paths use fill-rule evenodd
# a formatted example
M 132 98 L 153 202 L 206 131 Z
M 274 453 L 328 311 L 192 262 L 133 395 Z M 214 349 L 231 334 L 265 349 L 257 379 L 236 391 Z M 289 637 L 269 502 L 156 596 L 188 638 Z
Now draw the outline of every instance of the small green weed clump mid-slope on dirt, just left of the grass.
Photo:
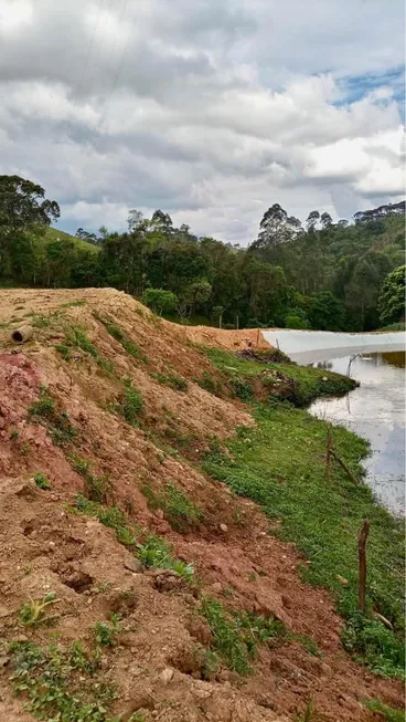
M 203 517 L 199 506 L 174 484 L 165 484 L 162 490 L 154 491 L 145 484 L 142 493 L 148 500 L 151 509 L 161 509 L 172 529 L 177 532 L 188 532 L 193 529 Z

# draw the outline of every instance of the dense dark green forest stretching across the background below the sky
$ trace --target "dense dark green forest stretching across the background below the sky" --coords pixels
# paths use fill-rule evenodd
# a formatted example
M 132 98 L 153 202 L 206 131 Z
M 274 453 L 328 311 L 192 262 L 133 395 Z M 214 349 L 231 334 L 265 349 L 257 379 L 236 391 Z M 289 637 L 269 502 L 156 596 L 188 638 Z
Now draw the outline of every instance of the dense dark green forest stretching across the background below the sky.
M 404 320 L 405 201 L 304 227 L 274 203 L 247 248 L 128 214 L 128 231 L 51 228 L 44 189 L 0 176 L 0 285 L 115 286 L 183 323 L 368 331 Z M 247 239 L 249 240 L 249 239 Z

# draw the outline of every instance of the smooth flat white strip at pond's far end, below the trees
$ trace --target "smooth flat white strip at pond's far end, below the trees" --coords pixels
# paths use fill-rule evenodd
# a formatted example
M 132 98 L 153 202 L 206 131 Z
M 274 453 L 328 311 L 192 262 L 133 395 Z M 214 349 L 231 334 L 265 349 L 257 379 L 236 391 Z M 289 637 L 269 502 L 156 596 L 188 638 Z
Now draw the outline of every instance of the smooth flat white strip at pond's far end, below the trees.
M 280 348 L 299 364 L 312 364 L 353 354 L 405 350 L 406 347 L 406 334 L 403 331 L 382 334 L 346 334 L 332 331 L 280 328 L 261 333 L 268 344 Z

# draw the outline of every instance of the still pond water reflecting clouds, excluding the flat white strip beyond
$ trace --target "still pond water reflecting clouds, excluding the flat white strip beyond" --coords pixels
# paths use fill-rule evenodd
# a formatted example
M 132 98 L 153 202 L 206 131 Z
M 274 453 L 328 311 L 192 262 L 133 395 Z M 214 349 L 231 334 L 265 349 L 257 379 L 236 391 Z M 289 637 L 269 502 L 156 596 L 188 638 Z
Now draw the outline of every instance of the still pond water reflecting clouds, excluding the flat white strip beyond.
M 346 374 L 353 356 L 314 366 Z M 351 363 L 361 386 L 342 398 L 319 399 L 310 412 L 342 423 L 371 443 L 366 482 L 395 514 L 405 513 L 405 353 L 363 354 Z

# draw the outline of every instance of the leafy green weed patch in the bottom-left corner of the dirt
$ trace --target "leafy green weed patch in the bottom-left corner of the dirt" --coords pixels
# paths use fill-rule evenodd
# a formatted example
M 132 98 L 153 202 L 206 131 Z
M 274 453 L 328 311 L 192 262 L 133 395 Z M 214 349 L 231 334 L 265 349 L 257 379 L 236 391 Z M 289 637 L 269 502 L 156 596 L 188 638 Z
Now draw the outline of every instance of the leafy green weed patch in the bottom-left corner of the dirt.
M 67 651 L 18 641 L 10 651 L 14 692 L 26 699 L 26 709 L 38 720 L 114 722 L 107 709 L 117 692 L 96 677 L 97 651 L 85 651 L 79 641 Z

